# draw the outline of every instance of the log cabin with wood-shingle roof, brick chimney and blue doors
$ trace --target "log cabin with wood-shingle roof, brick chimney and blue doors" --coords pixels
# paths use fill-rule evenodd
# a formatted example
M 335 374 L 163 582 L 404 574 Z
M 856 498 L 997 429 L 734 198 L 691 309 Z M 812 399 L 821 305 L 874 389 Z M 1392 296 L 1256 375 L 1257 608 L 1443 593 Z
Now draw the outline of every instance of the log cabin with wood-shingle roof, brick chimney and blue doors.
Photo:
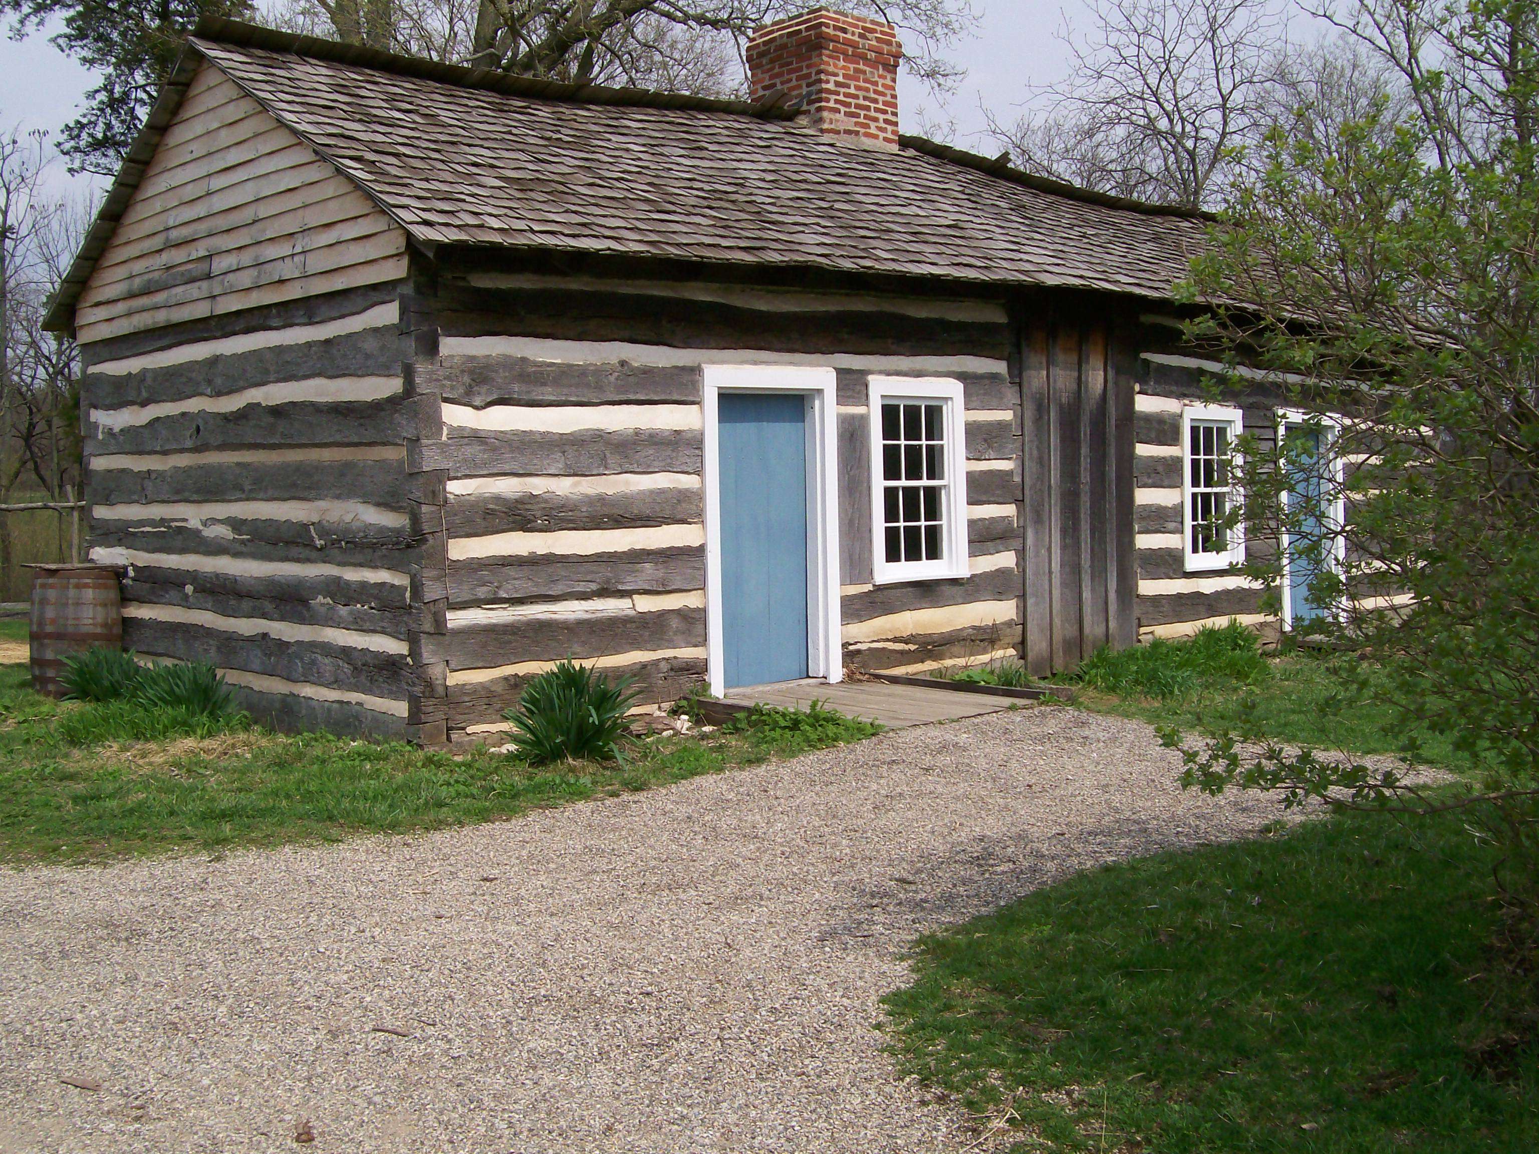
M 51 314 L 125 643 L 440 743 L 563 657 L 660 702 L 1259 620 L 1193 523 L 1276 422 L 1176 346 L 1207 223 L 900 137 L 899 58 L 808 14 L 733 103 L 200 25 Z

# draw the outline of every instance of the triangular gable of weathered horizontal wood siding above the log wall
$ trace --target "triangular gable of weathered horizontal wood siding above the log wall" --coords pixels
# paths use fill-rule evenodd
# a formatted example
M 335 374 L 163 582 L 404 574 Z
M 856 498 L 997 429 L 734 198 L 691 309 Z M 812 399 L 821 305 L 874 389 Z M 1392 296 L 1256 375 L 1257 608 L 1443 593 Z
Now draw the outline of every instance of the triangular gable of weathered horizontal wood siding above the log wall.
M 399 280 L 406 234 L 205 65 L 80 295 L 85 343 Z

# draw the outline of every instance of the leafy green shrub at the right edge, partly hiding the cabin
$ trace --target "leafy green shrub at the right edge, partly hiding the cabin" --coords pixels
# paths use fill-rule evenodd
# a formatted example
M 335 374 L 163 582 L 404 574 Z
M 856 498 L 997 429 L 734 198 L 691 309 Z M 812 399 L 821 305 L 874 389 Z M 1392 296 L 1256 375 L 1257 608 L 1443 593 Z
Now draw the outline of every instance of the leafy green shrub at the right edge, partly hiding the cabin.
M 1354 18 L 1394 98 L 1277 128 L 1193 268 L 1210 314 L 1190 337 L 1293 374 L 1274 377 L 1287 408 L 1342 417 L 1344 519 L 1310 559 L 1336 569 L 1320 628 L 1382 671 L 1393 728 L 1462 771 L 1539 952 L 1539 15 L 1357 0 Z M 1285 449 L 1251 446 L 1237 472 L 1250 540 L 1305 528 Z M 1248 575 L 1276 583 L 1277 557 L 1254 551 Z M 1233 729 L 1190 751 L 1188 782 L 1428 808 L 1394 771 L 1257 754 Z

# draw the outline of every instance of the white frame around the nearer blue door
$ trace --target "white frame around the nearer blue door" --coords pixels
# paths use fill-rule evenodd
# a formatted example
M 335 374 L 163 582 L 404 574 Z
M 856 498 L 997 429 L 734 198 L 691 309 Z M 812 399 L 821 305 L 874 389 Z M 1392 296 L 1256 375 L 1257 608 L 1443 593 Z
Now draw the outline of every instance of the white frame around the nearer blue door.
M 806 397 L 806 672 L 845 675 L 839 614 L 837 375 L 828 368 L 705 365 L 705 675 L 711 694 L 726 688 L 722 626 L 722 474 L 717 399 L 722 392 L 797 392 Z

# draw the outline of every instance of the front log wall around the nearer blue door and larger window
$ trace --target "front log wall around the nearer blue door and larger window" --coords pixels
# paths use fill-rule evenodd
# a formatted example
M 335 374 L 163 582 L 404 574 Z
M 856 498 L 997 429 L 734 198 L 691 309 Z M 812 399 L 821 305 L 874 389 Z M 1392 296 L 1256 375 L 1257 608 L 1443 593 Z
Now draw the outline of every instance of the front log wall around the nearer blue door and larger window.
M 845 660 L 919 668 L 1016 652 L 1019 402 L 997 305 L 446 269 L 416 388 L 442 439 L 445 699 L 454 737 L 506 728 L 526 680 L 576 657 L 643 700 L 705 677 L 702 366 L 839 371 Z M 866 379 L 953 375 L 968 408 L 974 577 L 871 585 Z

